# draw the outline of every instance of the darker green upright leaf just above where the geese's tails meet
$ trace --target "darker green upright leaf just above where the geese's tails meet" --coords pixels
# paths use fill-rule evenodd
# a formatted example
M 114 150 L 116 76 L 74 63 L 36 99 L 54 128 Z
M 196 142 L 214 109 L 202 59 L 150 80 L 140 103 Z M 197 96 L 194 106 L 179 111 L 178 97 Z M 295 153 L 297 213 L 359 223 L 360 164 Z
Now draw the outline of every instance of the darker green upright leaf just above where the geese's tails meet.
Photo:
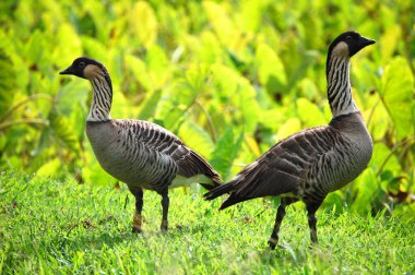
M 240 130 L 239 133 L 234 133 L 232 128 L 227 128 L 216 143 L 216 147 L 212 153 L 211 164 L 224 180 L 229 177 L 232 164 L 238 155 L 242 140 L 244 130 Z

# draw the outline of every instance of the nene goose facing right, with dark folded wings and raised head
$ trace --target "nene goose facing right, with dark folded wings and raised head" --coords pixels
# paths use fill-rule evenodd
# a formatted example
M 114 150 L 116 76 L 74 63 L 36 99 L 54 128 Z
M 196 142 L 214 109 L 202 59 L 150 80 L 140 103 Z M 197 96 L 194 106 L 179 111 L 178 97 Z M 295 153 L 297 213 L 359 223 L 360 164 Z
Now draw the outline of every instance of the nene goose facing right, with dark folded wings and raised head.
M 346 32 L 329 47 L 328 98 L 332 111 L 329 125 L 297 132 L 246 166 L 228 183 L 205 194 L 213 200 L 230 193 L 221 210 L 261 196 L 281 196 L 269 244 L 275 249 L 285 207 L 299 200 L 308 212 L 310 237 L 317 243 L 316 211 L 328 193 L 354 180 L 367 166 L 372 140 L 352 97 L 349 58 L 374 44 L 358 33 Z

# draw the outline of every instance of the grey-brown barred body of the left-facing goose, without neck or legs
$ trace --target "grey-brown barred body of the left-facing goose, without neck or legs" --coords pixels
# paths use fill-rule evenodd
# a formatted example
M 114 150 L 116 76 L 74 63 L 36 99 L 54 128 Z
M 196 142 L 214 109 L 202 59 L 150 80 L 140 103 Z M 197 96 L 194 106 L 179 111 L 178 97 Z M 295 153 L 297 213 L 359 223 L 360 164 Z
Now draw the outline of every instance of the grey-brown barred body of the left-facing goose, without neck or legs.
M 87 121 L 86 135 L 104 170 L 129 188 L 161 193 L 192 182 L 209 184 L 217 177 L 176 135 L 149 121 Z

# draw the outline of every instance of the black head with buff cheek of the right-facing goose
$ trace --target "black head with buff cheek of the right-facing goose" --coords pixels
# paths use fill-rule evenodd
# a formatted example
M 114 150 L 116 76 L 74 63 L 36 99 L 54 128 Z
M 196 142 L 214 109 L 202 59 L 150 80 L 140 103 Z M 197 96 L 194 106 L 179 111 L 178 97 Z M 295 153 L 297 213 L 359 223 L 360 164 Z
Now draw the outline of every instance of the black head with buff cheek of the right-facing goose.
M 341 34 L 329 47 L 329 57 L 331 55 L 353 57 L 359 50 L 375 44 L 375 40 L 360 36 L 356 32 L 345 32 Z

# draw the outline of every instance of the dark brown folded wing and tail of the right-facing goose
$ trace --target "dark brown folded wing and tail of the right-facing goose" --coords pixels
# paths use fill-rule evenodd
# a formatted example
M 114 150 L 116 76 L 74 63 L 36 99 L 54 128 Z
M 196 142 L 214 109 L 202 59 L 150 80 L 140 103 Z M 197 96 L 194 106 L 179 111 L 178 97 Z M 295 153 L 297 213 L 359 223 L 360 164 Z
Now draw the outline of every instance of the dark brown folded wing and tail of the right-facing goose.
M 332 152 L 334 140 L 328 127 L 298 132 L 278 142 L 233 180 L 206 194 L 214 199 L 226 192 L 230 196 L 221 208 L 253 198 L 296 194 L 316 171 L 320 158 Z

